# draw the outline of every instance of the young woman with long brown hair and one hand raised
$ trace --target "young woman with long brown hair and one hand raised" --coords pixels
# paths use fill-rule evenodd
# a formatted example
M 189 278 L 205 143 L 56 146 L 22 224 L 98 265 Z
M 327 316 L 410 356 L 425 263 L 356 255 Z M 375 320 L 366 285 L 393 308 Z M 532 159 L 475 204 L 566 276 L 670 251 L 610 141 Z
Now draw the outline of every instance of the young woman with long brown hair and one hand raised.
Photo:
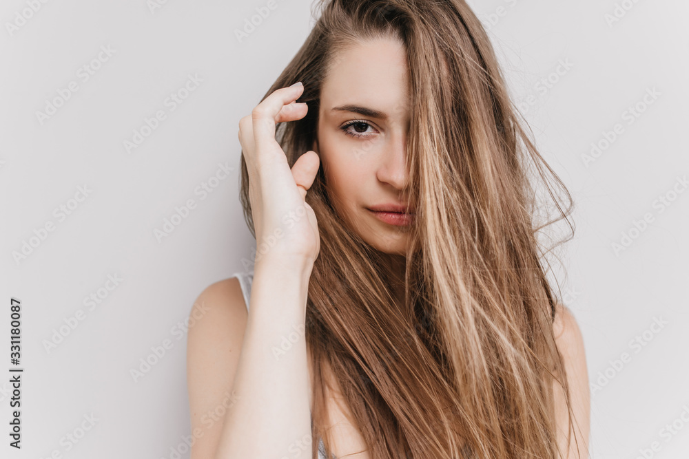
M 192 459 L 588 457 L 532 182 L 551 222 L 571 200 L 482 24 L 463 0 L 321 6 L 239 123 L 258 253 L 192 308 Z

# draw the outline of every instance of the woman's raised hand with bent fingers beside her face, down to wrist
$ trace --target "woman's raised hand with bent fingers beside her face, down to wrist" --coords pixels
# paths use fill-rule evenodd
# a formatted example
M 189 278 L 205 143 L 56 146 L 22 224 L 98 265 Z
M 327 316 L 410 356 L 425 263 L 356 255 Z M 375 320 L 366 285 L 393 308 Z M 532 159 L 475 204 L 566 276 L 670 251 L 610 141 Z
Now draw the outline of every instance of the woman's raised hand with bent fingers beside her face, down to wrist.
M 296 103 L 303 91 L 301 83 L 276 89 L 239 121 L 256 230 L 256 265 L 274 257 L 312 263 L 320 251 L 316 215 L 305 201 L 320 167 L 318 153 L 302 154 L 290 170 L 275 140 L 278 122 L 306 116 L 306 103 Z

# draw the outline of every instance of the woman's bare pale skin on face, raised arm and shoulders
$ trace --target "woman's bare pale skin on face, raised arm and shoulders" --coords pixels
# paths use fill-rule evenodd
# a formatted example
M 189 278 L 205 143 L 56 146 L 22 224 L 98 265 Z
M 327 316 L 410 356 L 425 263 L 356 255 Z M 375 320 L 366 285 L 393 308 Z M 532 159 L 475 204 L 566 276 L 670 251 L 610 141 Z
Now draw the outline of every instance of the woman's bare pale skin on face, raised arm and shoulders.
M 240 121 L 257 242 L 281 228 L 285 244 L 271 248 L 256 263 L 250 313 L 236 278 L 212 284 L 194 303 L 192 314 L 200 315 L 202 305 L 205 312 L 189 329 L 187 343 L 189 407 L 196 438 L 192 459 L 311 457 L 313 374 L 305 339 L 300 336 L 279 361 L 271 353 L 277 337 L 305 323 L 308 279 L 320 250 L 316 217 L 305 196 L 322 165 L 343 220 L 378 250 L 404 254 L 404 228 L 380 222 L 367 206 L 407 198 L 407 75 L 404 47 L 394 39 L 363 41 L 342 52 L 322 86 L 313 151 L 302 155 L 291 170 L 274 140 L 274 129 L 277 122 L 307 114 L 306 104 L 295 103 L 303 87 L 278 89 Z M 350 107 L 337 109 L 344 106 Z M 378 113 L 364 116 L 351 111 L 358 110 L 353 107 Z M 342 128 L 351 122 L 358 124 L 347 127 L 348 135 Z M 293 228 L 280 227 L 282 215 L 298 206 L 305 206 L 307 218 Z M 584 341 L 573 315 L 562 305 L 557 306 L 553 330 L 568 375 L 579 440 L 578 450 L 573 441 L 565 451 L 563 434 L 560 448 L 567 459 L 588 458 L 590 395 Z M 326 378 L 333 385 L 327 390 L 333 453 L 338 458 L 369 458 L 327 369 Z M 565 432 L 564 394 L 559 386 L 555 389 L 555 412 Z M 227 394 L 233 390 L 237 397 L 231 408 L 218 411 L 228 406 Z

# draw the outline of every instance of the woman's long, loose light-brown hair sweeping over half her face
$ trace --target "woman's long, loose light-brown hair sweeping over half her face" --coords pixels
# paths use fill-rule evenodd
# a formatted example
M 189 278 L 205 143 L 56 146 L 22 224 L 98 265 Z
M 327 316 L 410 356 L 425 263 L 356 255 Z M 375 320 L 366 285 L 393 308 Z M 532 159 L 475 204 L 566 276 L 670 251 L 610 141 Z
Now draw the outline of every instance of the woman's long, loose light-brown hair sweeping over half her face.
M 571 239 L 573 202 L 526 135 L 482 23 L 464 0 L 318 6 L 311 34 L 263 97 L 305 85 L 298 101 L 309 104 L 307 116 L 280 123 L 276 139 L 291 167 L 313 149 L 320 89 L 338 53 L 369 39 L 399 39 L 409 68 L 416 216 L 407 255 L 385 254 L 343 224 L 322 168 L 307 193 L 321 238 L 306 312 L 313 438 L 331 451 L 327 363 L 371 458 L 562 457 L 555 382 L 566 394 L 568 442 L 572 410 L 538 233 L 564 220 L 571 235 L 560 242 Z M 241 168 L 240 200 L 255 237 L 243 157 Z M 532 178 L 542 179 L 558 211 L 542 225 Z M 406 262 L 402 304 L 390 275 L 395 256 Z

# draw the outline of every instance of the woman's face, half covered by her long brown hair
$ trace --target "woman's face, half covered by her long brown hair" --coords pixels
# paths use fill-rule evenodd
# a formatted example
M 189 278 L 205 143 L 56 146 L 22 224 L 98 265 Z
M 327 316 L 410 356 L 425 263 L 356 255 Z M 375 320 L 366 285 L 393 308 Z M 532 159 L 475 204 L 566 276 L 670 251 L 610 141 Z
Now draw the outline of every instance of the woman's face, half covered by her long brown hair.
M 395 39 L 364 41 L 333 61 L 320 92 L 314 148 L 331 201 L 343 223 L 367 244 L 404 255 L 413 220 L 413 209 L 405 215 L 395 208 L 408 204 L 409 83 L 404 45 Z M 395 212 L 373 211 L 380 206 Z

